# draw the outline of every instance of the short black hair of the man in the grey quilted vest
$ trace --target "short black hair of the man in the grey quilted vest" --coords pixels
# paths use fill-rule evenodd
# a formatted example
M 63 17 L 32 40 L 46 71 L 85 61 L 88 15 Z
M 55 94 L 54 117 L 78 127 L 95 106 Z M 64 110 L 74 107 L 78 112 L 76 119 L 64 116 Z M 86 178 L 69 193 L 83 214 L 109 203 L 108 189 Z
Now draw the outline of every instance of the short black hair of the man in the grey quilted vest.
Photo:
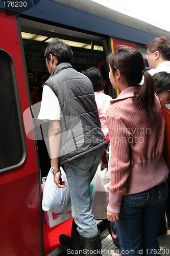
M 54 55 L 58 59 L 56 65 L 59 65 L 62 62 L 71 63 L 73 55 L 71 48 L 58 38 L 54 38 L 46 47 L 44 56 L 47 58 L 48 63 L 50 60 L 50 54 Z

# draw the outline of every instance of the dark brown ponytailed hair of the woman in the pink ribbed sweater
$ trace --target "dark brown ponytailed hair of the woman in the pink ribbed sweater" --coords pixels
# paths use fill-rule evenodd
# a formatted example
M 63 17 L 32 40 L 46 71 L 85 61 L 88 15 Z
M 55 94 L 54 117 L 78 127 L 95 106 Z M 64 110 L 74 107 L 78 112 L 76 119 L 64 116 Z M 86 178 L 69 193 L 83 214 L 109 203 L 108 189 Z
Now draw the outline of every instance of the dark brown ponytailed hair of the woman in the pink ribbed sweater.
M 134 93 L 135 97 L 133 100 L 144 101 L 147 118 L 149 121 L 153 121 L 152 110 L 155 99 L 155 80 L 145 70 L 142 54 L 134 48 L 119 46 L 115 52 L 108 54 L 107 62 L 113 74 L 116 70 L 119 70 L 129 86 L 138 87 Z M 144 76 L 144 83 L 140 86 L 139 83 L 141 82 L 142 75 Z

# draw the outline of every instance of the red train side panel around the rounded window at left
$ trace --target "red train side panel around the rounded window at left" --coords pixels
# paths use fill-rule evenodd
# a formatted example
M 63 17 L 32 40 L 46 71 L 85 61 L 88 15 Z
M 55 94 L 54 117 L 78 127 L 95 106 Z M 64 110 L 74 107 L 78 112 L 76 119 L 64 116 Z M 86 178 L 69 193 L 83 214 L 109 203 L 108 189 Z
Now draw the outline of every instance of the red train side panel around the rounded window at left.
M 0 11 L 0 20 L 3 37 L 0 49 L 6 51 L 13 61 L 22 115 L 30 104 L 17 16 Z M 41 183 L 34 140 L 28 139 L 25 134 L 21 161 L 17 166 L 5 169 L 0 179 L 0 254 L 43 255 Z

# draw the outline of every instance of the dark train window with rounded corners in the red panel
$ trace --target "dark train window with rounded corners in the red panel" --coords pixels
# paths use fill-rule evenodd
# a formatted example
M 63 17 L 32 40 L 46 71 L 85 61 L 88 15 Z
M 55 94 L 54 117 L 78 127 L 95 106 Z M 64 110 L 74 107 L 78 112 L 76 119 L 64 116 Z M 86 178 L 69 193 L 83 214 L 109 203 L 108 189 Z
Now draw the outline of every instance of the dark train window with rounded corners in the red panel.
M 25 141 L 19 109 L 14 63 L 11 56 L 0 49 L 0 172 L 20 166 L 25 159 Z

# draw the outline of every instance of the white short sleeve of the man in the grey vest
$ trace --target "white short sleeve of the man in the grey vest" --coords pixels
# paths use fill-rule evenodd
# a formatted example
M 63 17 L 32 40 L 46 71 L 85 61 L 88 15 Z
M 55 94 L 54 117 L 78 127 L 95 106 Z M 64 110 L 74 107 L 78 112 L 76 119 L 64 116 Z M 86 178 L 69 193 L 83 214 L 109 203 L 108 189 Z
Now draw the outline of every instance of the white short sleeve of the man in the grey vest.
M 41 108 L 38 119 L 44 121 L 61 119 L 59 100 L 52 89 L 48 86 L 43 87 Z

